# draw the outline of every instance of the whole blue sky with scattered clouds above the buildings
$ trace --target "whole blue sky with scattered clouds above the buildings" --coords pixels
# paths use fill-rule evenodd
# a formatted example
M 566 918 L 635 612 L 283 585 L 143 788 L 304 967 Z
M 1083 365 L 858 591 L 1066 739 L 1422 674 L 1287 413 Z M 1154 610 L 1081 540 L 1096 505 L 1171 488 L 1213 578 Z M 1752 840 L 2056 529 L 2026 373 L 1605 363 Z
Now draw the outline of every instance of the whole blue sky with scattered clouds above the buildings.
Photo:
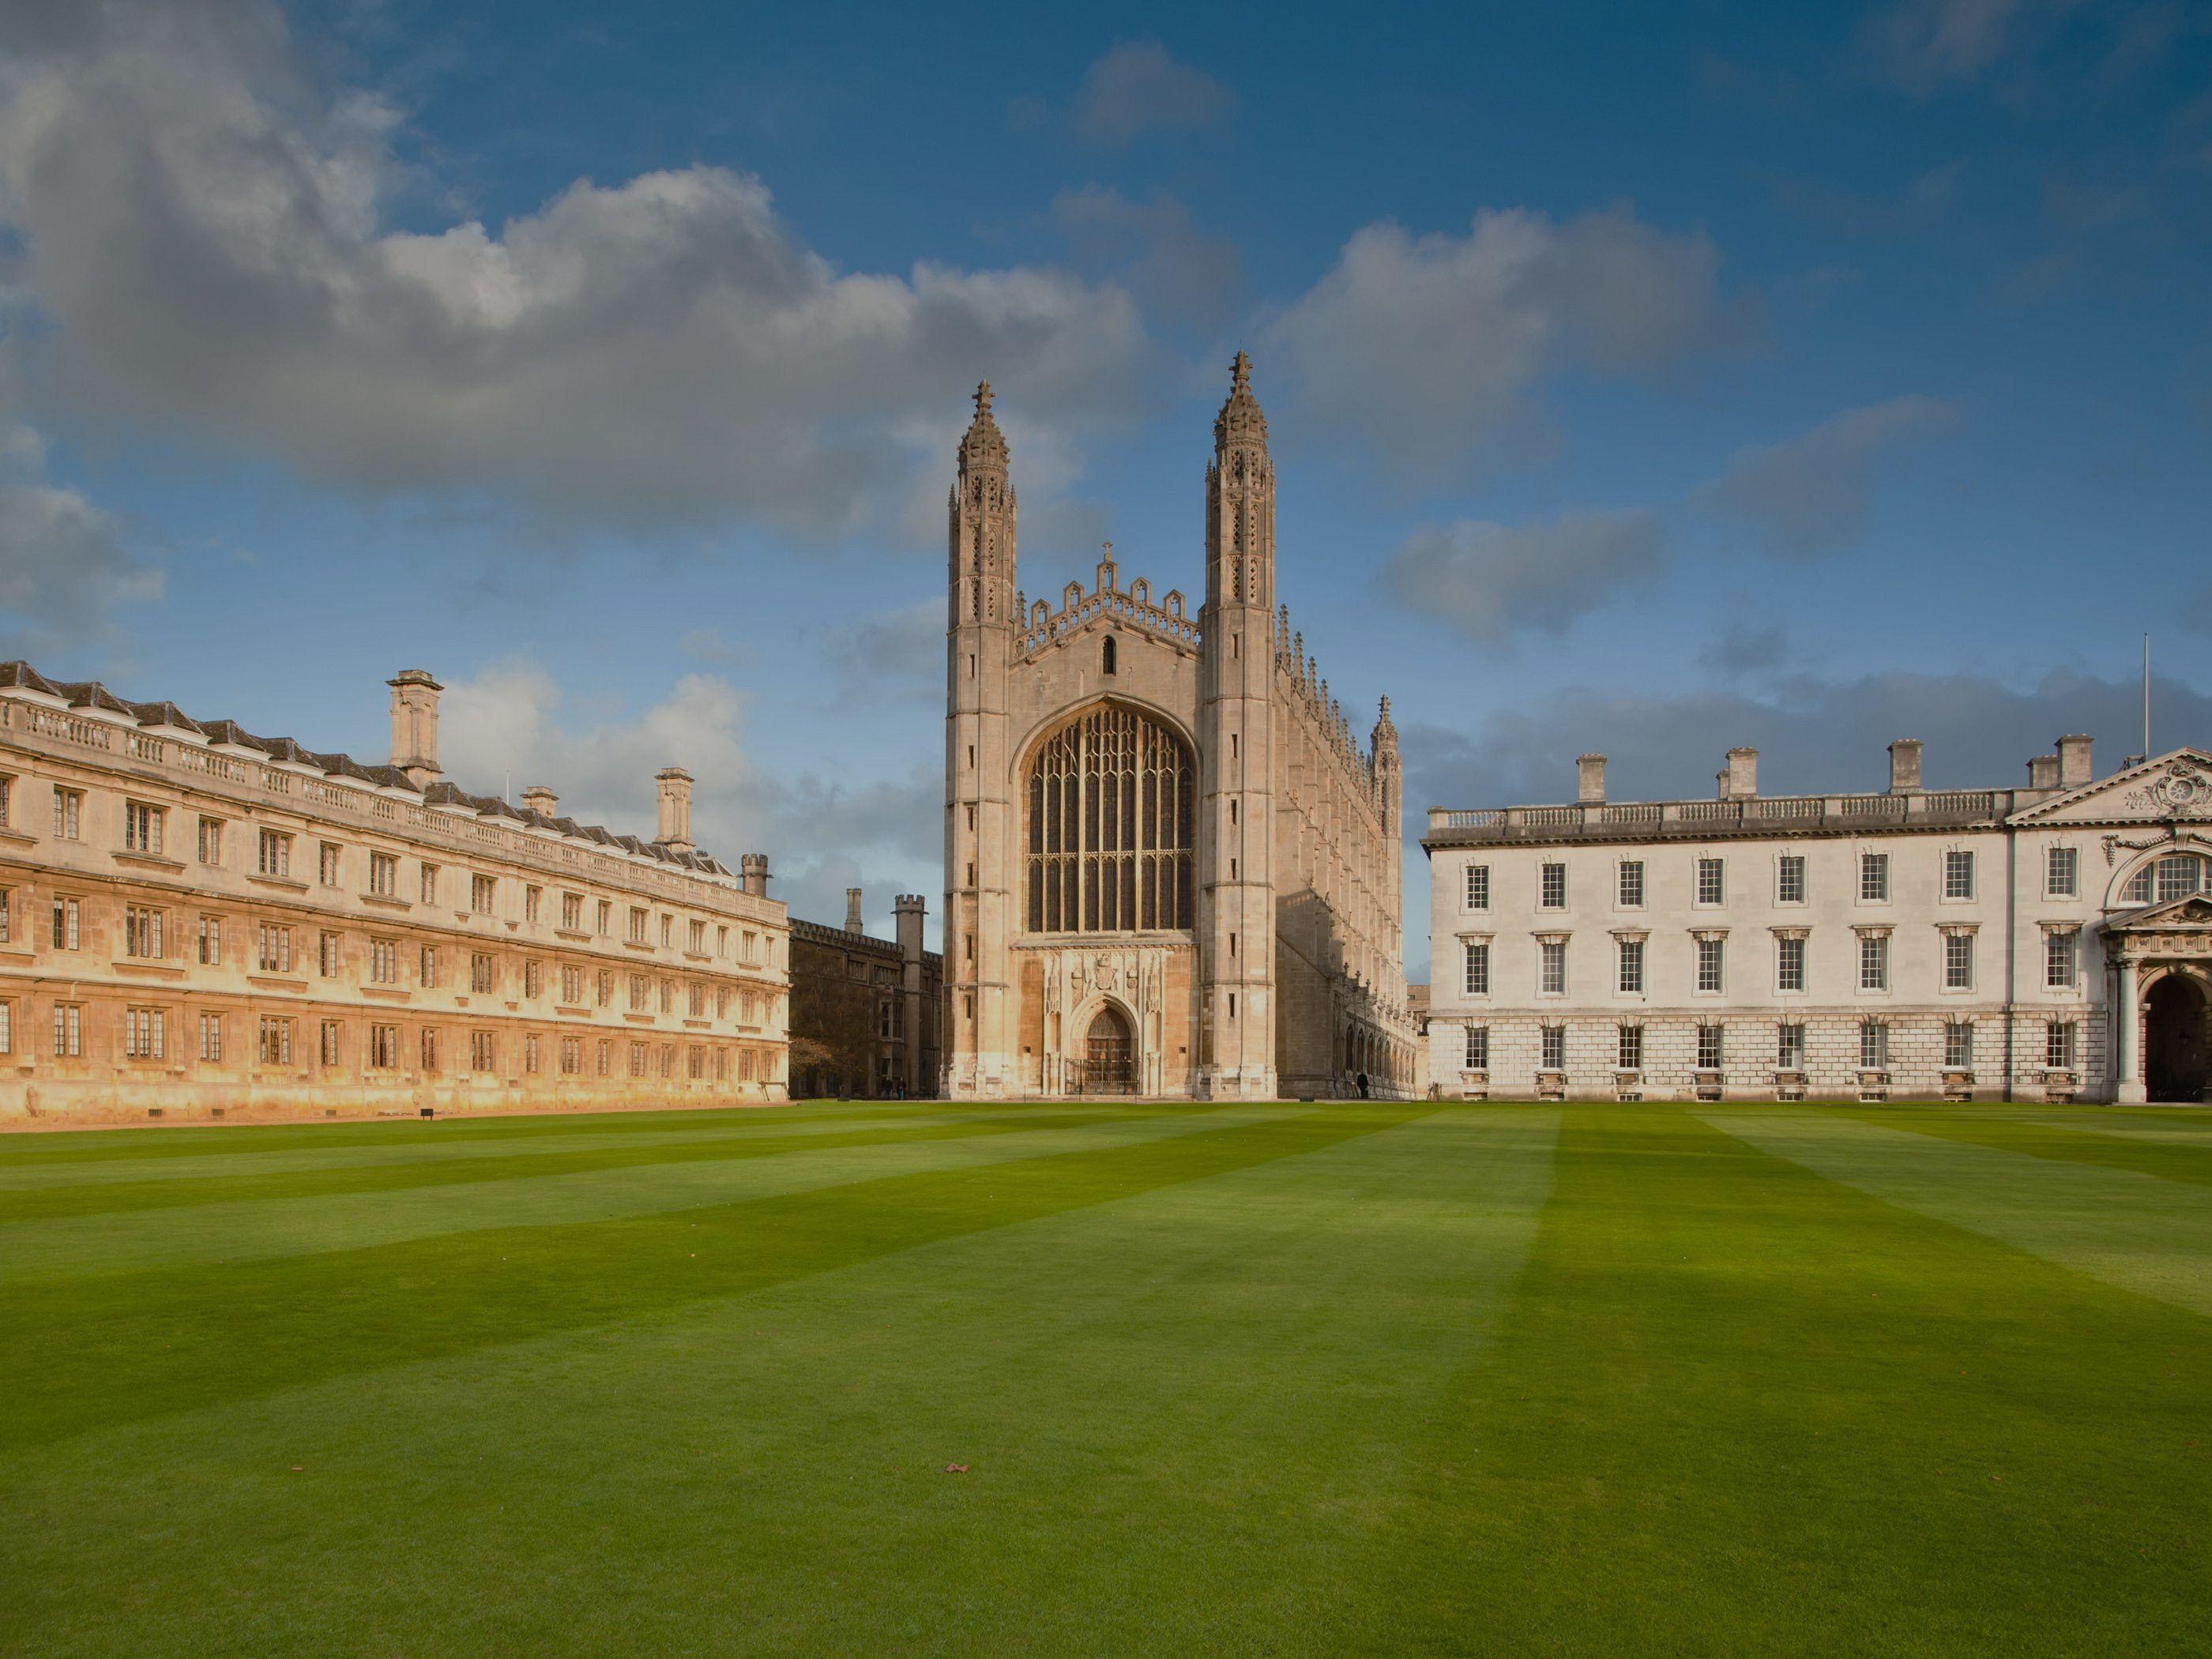
M 0 655 L 942 889 L 942 493 L 1281 597 L 1427 805 L 2212 739 L 2212 4 L 0 0 Z M 1102 13 L 1104 15 L 1104 13 Z M 1425 967 L 1425 872 L 1407 854 Z M 933 902 L 936 907 L 936 902 Z

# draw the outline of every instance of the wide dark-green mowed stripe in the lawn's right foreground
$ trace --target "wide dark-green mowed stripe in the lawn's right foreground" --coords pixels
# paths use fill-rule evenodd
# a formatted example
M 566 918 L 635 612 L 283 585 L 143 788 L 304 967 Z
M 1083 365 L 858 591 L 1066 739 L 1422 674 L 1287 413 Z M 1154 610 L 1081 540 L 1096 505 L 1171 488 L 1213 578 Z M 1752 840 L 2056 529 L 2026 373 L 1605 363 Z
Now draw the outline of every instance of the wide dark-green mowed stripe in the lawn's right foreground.
M 2212 1325 L 1717 1121 L 1568 1108 L 1371 1650 L 2201 1652 Z

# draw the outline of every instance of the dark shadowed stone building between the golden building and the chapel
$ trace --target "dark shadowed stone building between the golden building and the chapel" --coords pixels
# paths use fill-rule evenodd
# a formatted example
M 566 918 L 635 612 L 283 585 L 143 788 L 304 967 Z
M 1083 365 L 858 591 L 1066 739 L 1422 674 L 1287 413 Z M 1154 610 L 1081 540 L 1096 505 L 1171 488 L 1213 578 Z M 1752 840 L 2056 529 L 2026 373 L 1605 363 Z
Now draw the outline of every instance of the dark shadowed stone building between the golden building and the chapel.
M 792 920 L 794 1099 L 938 1093 L 945 958 L 922 949 L 925 909 L 920 894 L 900 894 L 894 938 L 874 938 L 849 887 L 845 927 Z

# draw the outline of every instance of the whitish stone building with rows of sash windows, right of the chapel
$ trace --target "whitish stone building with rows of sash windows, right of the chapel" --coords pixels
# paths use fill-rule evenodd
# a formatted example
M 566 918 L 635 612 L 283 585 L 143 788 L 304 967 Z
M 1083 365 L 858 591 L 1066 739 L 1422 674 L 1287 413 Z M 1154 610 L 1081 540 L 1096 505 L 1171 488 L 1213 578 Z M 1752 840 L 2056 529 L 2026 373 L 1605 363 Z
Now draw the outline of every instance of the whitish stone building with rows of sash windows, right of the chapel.
M 2203 1099 L 2212 757 L 2024 790 L 1433 810 L 1429 1057 L 1444 1095 Z

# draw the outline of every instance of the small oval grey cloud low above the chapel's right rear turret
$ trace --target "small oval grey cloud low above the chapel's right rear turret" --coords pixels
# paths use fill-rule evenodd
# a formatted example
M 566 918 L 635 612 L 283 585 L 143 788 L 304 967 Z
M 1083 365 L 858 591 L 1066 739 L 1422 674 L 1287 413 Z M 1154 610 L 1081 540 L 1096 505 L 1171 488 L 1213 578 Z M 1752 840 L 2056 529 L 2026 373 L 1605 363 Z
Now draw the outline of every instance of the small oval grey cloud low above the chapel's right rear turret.
M 1416 529 L 1383 582 L 1409 611 L 1498 644 L 1524 628 L 1566 633 L 1661 562 L 1650 513 L 1566 513 L 1548 524 L 1462 520 Z

